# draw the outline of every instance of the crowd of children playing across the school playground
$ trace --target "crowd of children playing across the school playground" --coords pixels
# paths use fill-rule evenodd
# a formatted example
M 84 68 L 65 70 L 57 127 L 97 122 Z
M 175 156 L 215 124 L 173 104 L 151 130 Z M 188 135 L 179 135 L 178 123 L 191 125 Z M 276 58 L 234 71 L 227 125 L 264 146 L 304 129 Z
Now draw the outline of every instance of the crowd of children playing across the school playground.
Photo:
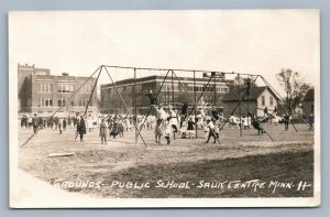
M 175 135 L 176 133 L 182 139 L 195 139 L 197 130 L 205 132 L 206 143 L 210 139 L 216 143 L 217 140 L 219 141 L 220 131 L 223 130 L 226 123 L 231 129 L 248 130 L 254 128 L 258 134 L 265 132 L 261 126 L 263 120 L 257 120 L 251 113 L 245 117 L 237 117 L 232 113 L 229 118 L 223 118 L 222 113 L 220 115 L 219 110 L 215 107 L 207 110 L 195 107 L 193 111 L 188 111 L 189 105 L 187 102 L 184 102 L 180 111 L 178 111 L 172 106 L 158 105 L 154 93 L 147 91 L 145 95 L 150 98 L 151 110 L 153 110 L 152 113 L 155 113 L 155 116 L 98 115 L 91 117 L 89 115 L 88 117 L 84 117 L 81 113 L 77 113 L 75 117 L 61 118 L 52 116 L 50 118 L 42 118 L 34 113 L 32 117 L 23 115 L 21 127 L 33 128 L 34 133 L 37 133 L 42 129 L 52 129 L 58 131 L 61 134 L 67 128 L 73 128 L 76 131 L 76 139 L 79 135 L 80 141 L 84 141 L 84 135 L 87 132 L 98 129 L 102 144 L 107 144 L 107 140 L 110 138 L 123 138 L 125 131 L 133 131 L 134 128 L 136 128 L 136 131 L 154 130 L 155 142 L 158 144 L 162 143 L 163 138 L 166 144 L 170 144 L 172 134 Z M 268 119 L 271 119 L 271 123 L 275 122 L 277 124 L 279 122 L 276 108 L 273 113 L 268 113 L 267 108 L 264 109 L 264 120 L 268 121 Z M 285 116 L 283 122 L 285 123 L 285 130 L 288 130 L 290 117 Z

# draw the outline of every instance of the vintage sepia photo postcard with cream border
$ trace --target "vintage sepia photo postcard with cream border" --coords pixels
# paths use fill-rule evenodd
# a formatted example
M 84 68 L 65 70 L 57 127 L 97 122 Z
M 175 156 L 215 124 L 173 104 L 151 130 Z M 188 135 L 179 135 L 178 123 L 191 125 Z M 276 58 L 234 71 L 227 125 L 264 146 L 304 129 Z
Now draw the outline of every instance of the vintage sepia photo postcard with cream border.
M 320 205 L 319 10 L 12 11 L 10 207 Z

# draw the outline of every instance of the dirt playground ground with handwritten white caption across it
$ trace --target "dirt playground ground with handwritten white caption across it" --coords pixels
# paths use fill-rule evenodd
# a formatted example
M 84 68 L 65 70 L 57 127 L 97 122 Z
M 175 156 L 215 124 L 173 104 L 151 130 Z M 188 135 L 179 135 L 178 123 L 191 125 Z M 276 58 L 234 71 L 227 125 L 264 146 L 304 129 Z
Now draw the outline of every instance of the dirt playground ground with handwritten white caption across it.
M 310 197 L 314 194 L 314 132 L 306 124 L 284 131 L 265 124 L 274 142 L 254 129 L 226 127 L 220 142 L 204 143 L 177 135 L 169 145 L 154 142 L 143 130 L 147 149 L 134 130 L 101 144 L 98 129 L 75 140 L 75 129 L 62 134 L 44 129 L 19 148 L 19 167 L 67 192 L 95 197 Z M 19 147 L 32 129 L 19 129 Z M 109 139 L 109 138 L 108 138 Z M 51 153 L 73 153 L 47 158 Z

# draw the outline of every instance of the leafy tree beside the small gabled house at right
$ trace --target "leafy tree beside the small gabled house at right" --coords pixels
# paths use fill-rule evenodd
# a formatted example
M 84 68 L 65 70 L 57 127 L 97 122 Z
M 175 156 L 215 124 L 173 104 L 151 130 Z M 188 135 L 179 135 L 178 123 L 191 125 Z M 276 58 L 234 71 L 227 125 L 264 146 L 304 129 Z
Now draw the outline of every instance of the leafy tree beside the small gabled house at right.
M 280 73 L 276 74 L 276 78 L 286 93 L 286 102 L 290 105 L 289 112 L 295 111 L 311 88 L 310 84 L 305 83 L 300 73 L 293 72 L 290 68 L 282 68 Z

